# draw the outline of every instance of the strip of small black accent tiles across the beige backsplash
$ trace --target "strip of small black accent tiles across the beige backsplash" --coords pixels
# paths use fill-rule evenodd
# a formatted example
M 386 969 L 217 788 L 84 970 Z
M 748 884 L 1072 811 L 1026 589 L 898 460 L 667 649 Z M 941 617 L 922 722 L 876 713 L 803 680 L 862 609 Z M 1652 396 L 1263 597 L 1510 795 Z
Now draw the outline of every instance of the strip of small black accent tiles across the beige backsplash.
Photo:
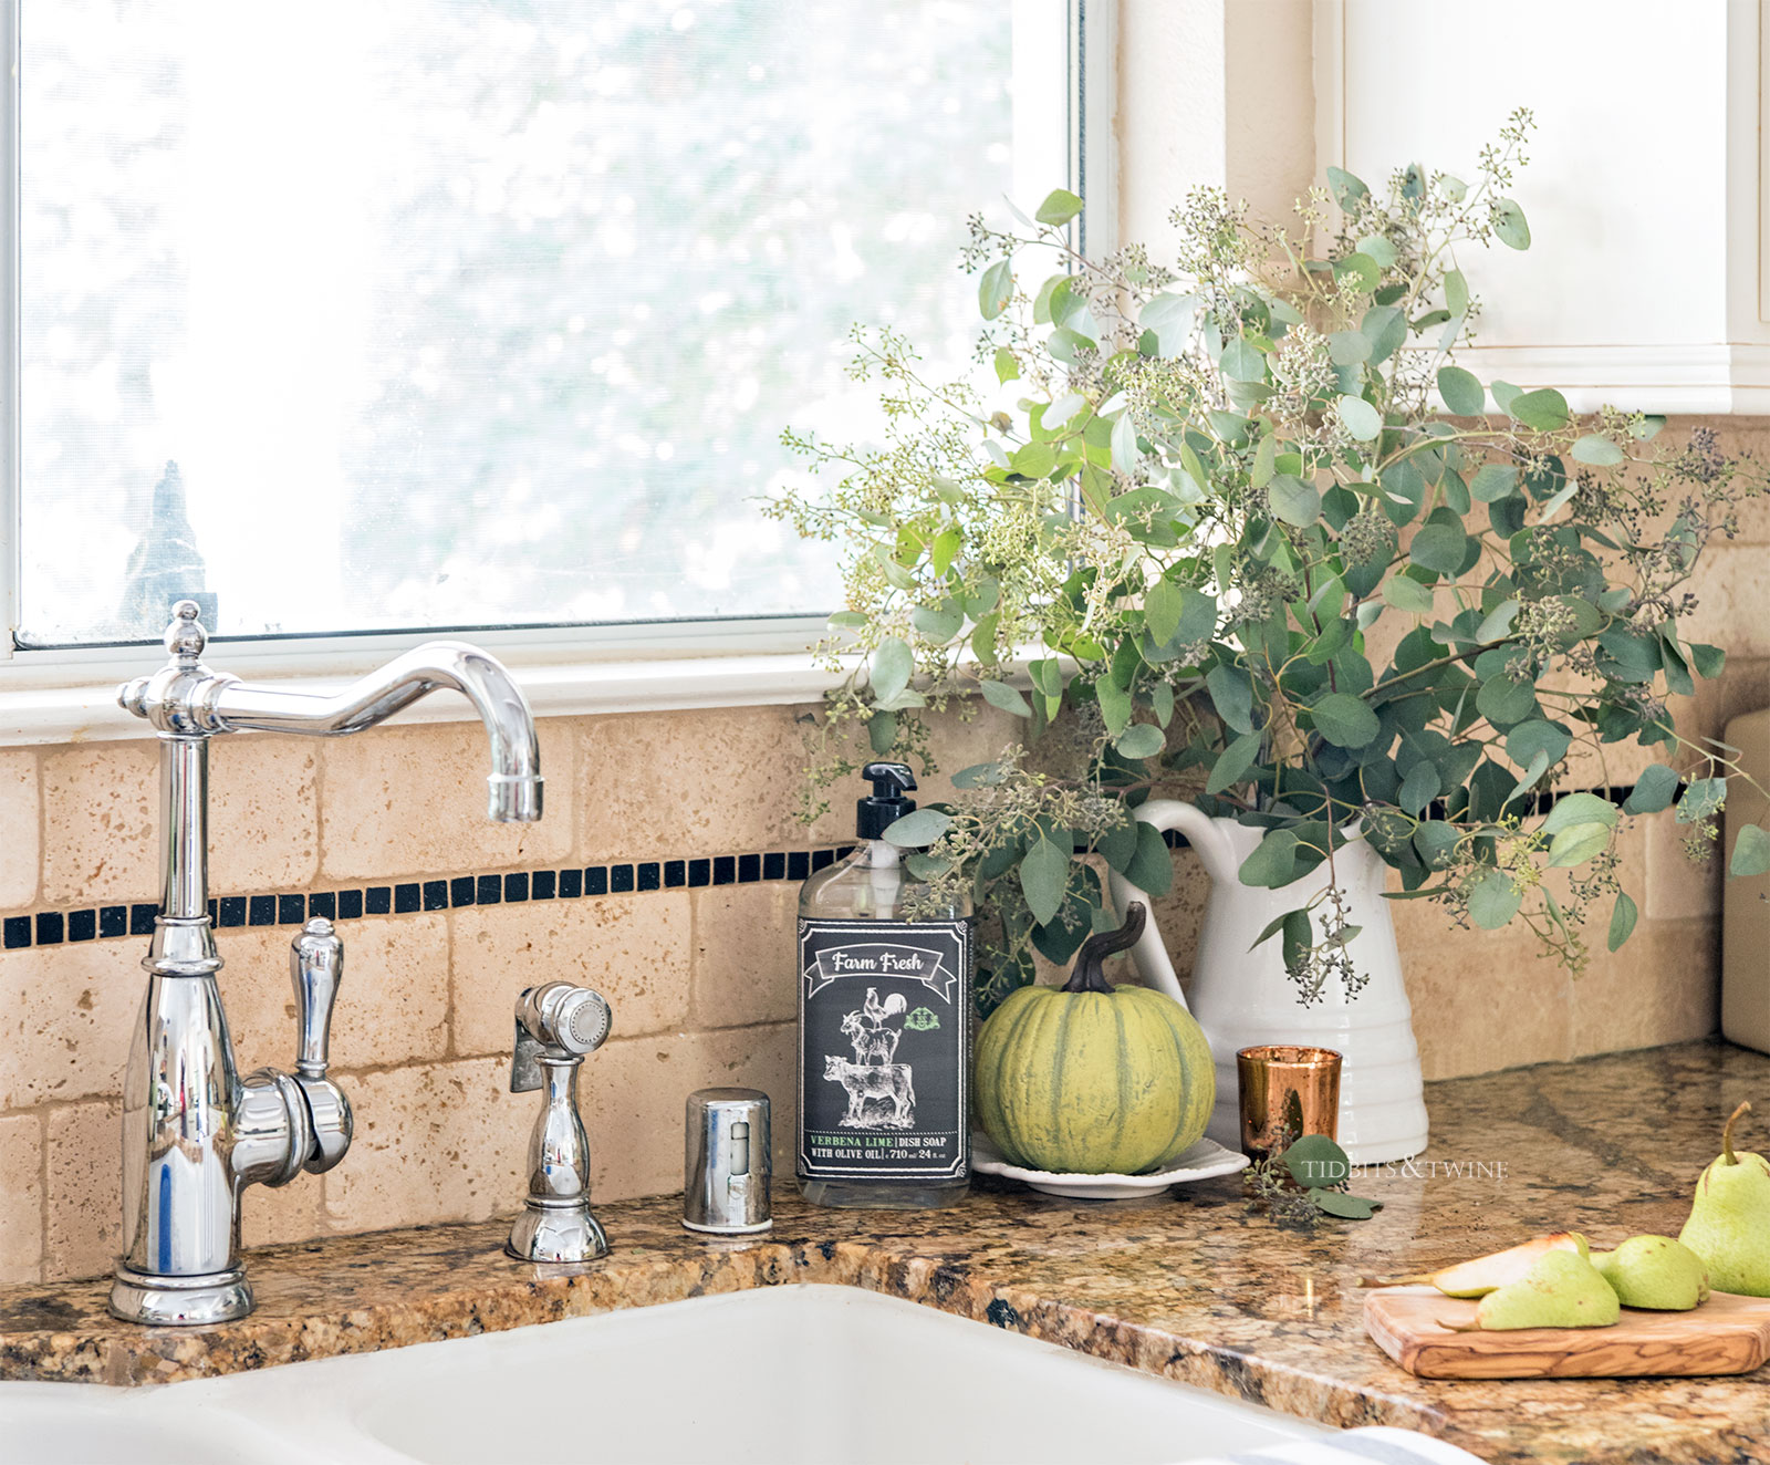
M 1572 789 L 1538 793 L 1524 803 L 1529 805 L 1528 812 L 1531 814 L 1547 814 L 1566 793 Z M 1634 786 L 1586 789 L 1586 793 L 1595 793 L 1611 803 L 1621 803 L 1634 793 Z M 1434 803 L 1427 814 L 1435 819 L 1444 817 L 1443 803 Z M 1177 830 L 1168 830 L 1163 840 L 1170 849 L 1186 848 L 1186 839 Z M 209 902 L 209 917 L 221 929 L 299 925 L 308 917 L 358 920 L 365 915 L 409 915 L 526 901 L 579 901 L 586 895 L 650 894 L 653 890 L 701 890 L 710 885 L 752 885 L 779 879 L 798 883 L 814 871 L 828 869 L 837 860 L 844 860 L 853 849 L 851 844 L 839 844 L 823 849 L 773 849 L 681 860 L 637 860 L 620 865 L 568 865 L 510 874 L 437 876 L 402 885 L 368 885 L 308 894 L 221 895 Z M 150 936 L 158 915 L 159 906 L 145 901 L 23 911 L 0 920 L 0 950 Z

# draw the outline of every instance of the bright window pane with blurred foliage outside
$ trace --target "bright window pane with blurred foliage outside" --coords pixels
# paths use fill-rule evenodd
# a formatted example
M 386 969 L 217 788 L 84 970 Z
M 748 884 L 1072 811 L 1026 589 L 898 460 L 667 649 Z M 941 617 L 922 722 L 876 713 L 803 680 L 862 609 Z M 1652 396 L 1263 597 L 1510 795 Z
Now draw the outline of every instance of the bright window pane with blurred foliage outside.
M 16 646 L 828 610 L 750 501 L 970 361 L 1067 9 L 21 4 Z

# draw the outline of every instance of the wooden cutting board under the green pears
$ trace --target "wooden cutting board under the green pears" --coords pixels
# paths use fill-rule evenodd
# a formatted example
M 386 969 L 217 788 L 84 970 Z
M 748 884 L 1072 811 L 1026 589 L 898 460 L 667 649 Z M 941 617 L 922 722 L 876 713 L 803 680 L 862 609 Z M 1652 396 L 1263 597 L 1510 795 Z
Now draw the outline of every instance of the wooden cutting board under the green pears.
M 1770 1297 L 1713 1293 L 1689 1313 L 1623 1308 L 1614 1327 L 1451 1332 L 1474 1302 L 1391 1286 L 1365 1299 L 1365 1331 L 1421 1378 L 1637 1378 L 1751 1373 L 1770 1361 Z

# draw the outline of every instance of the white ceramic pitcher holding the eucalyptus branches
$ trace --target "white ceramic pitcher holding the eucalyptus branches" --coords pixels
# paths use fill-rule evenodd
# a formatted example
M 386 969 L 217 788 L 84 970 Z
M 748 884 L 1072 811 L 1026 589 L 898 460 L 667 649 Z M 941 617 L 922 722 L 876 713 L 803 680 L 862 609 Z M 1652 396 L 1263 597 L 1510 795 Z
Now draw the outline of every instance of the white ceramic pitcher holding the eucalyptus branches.
M 1143 986 L 1188 1007 L 1211 1042 L 1216 1108 L 1205 1134 L 1220 1145 L 1241 1148 L 1235 1053 L 1255 1044 L 1294 1042 L 1331 1047 L 1343 1056 L 1338 1141 L 1354 1164 L 1382 1164 L 1420 1154 L 1427 1145 L 1420 1049 L 1402 986 L 1395 924 L 1389 902 L 1382 899 L 1382 860 L 1361 839 L 1335 851 L 1347 924 L 1363 927 L 1349 952 L 1368 980 L 1356 996 L 1329 982 L 1320 998 L 1304 1007 L 1297 1001 L 1297 984 L 1285 973 L 1278 936 L 1255 950 L 1248 947 L 1267 922 L 1297 909 L 1328 885 L 1326 862 L 1280 890 L 1243 885 L 1237 871 L 1260 842 L 1260 830 L 1234 819 L 1212 819 L 1177 800 L 1150 800 L 1136 810 L 1136 817 L 1158 830 L 1184 833 L 1211 876 L 1205 925 L 1193 957 L 1191 998 L 1181 994 L 1154 920 L 1131 948 Z M 1127 901 L 1150 904 L 1117 872 L 1112 874 L 1112 897 L 1120 911 Z

